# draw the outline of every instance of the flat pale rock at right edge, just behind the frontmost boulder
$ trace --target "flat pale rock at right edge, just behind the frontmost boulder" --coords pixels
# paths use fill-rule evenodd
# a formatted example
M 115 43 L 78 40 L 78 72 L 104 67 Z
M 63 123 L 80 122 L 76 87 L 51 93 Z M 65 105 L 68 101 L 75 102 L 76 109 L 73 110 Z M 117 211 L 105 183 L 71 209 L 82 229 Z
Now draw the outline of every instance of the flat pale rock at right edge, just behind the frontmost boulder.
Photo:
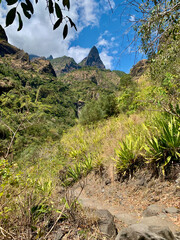
M 139 223 L 145 224 L 147 226 L 159 226 L 168 227 L 173 233 L 180 231 L 180 228 L 175 225 L 165 214 L 152 217 L 144 217 Z

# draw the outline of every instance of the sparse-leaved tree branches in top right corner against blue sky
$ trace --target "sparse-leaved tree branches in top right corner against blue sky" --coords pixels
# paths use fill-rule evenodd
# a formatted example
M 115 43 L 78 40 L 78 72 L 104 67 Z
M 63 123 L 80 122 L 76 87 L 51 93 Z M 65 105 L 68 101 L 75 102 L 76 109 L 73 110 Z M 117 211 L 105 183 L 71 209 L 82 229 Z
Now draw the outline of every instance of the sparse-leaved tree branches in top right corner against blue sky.
M 127 4 L 137 12 L 133 28 L 141 39 L 141 49 L 149 57 L 154 56 L 164 38 L 177 37 L 180 28 L 178 0 L 127 0 Z

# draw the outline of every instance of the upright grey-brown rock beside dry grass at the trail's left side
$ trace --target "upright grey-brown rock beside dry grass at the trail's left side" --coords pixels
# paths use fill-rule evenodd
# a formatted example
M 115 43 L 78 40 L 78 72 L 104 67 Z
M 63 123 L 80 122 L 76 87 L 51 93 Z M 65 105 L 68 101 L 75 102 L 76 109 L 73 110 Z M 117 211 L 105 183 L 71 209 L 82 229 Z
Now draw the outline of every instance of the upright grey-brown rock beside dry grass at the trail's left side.
M 116 236 L 117 230 L 114 224 L 113 215 L 108 210 L 104 209 L 96 210 L 95 215 L 98 218 L 99 230 L 109 237 Z

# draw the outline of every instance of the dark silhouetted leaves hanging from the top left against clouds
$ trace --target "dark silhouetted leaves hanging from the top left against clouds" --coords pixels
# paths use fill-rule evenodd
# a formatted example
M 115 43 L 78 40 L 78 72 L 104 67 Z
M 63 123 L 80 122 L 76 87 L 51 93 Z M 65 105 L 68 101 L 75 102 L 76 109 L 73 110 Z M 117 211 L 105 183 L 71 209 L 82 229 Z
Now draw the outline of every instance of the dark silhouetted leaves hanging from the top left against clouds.
M 0 0 L 1 2 L 1 0 Z M 5 0 L 8 6 L 12 6 L 9 12 L 6 15 L 6 27 L 11 25 L 15 18 L 18 17 L 19 27 L 17 31 L 20 31 L 23 28 L 23 21 L 21 17 L 21 13 L 19 8 L 22 8 L 23 14 L 26 18 L 30 19 L 34 14 L 34 7 L 30 0 Z M 74 27 L 77 31 L 75 23 L 69 16 L 63 15 L 63 10 L 70 9 L 70 0 L 62 0 L 62 4 L 60 4 L 59 0 L 46 0 L 47 10 L 50 15 L 53 14 L 56 18 L 55 23 L 53 23 L 53 30 L 58 28 L 63 22 L 65 22 L 64 30 L 63 30 L 63 38 L 65 39 L 68 35 L 68 23 L 71 27 Z M 35 3 L 38 4 L 38 0 L 35 0 Z

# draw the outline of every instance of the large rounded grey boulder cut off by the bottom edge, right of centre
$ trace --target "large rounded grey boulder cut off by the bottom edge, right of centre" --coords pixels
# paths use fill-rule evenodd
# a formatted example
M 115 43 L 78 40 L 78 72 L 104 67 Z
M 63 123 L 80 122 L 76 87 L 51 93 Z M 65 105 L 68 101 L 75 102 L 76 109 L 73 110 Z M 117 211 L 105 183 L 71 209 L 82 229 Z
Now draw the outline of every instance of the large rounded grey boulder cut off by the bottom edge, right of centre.
M 134 224 L 122 230 L 115 240 L 176 240 L 167 227 Z

